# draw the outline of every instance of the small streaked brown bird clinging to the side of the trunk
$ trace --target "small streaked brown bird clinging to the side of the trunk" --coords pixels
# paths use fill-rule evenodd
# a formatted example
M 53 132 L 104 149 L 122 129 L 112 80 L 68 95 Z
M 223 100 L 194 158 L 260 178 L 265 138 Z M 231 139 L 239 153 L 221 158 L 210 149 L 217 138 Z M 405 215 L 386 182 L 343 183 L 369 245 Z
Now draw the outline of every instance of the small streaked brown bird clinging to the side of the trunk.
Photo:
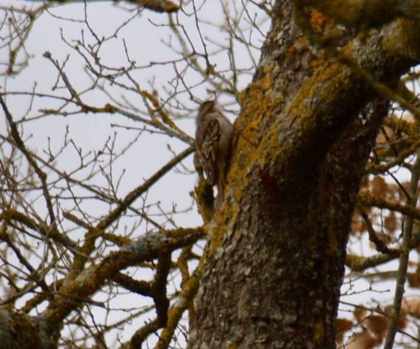
M 216 208 L 223 202 L 227 161 L 234 127 L 215 100 L 201 104 L 197 115 L 195 144 L 209 184 L 217 184 Z

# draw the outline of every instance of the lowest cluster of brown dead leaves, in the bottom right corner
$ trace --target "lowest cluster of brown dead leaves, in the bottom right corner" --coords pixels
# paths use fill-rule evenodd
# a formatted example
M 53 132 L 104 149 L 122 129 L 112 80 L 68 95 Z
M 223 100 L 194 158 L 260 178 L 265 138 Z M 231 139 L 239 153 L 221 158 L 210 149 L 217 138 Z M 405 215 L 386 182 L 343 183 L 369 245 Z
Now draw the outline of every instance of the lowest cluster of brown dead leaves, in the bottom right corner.
M 384 311 L 368 311 L 364 307 L 356 308 L 353 312 L 354 320 L 337 319 L 337 347 L 345 349 L 371 349 L 379 346 L 386 335 L 388 328 L 388 316 L 392 310 L 388 306 Z M 420 318 L 420 298 L 403 299 L 401 304 L 398 329 L 404 330 L 408 324 L 408 316 Z M 361 331 L 359 328 L 361 327 Z M 346 332 L 358 329 L 351 337 L 344 337 Z

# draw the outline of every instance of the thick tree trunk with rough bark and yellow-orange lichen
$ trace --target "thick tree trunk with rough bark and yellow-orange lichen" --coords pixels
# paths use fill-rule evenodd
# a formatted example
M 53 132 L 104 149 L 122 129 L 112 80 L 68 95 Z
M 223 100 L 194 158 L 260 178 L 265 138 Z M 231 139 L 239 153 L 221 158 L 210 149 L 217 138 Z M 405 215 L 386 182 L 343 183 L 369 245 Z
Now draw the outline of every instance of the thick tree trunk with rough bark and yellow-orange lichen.
M 388 103 L 310 48 L 290 1 L 273 13 L 236 123 L 259 147 L 240 137 L 234 151 L 227 198 L 209 228 L 190 349 L 336 347 L 349 224 Z M 319 13 L 312 20 L 328 25 Z M 418 29 L 398 20 L 364 44 L 343 39 L 343 52 L 392 83 L 418 61 Z

